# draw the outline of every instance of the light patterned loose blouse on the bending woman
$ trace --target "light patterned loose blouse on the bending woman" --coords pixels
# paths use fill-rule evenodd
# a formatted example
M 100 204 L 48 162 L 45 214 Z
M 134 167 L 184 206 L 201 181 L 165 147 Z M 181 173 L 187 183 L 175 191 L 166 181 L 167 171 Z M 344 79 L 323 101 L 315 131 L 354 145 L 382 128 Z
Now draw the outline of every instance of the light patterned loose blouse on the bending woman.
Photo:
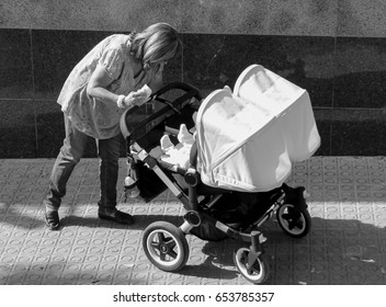
M 147 78 L 134 78 L 133 61 L 129 56 L 128 35 L 115 34 L 104 38 L 73 68 L 58 98 L 61 111 L 75 127 L 98 139 L 112 138 L 120 134 L 120 118 L 124 110 L 116 104 L 105 103 L 87 93 L 92 72 L 98 65 L 104 66 L 114 80 L 107 90 L 127 95 L 147 83 Z M 140 80 L 140 83 L 138 80 Z

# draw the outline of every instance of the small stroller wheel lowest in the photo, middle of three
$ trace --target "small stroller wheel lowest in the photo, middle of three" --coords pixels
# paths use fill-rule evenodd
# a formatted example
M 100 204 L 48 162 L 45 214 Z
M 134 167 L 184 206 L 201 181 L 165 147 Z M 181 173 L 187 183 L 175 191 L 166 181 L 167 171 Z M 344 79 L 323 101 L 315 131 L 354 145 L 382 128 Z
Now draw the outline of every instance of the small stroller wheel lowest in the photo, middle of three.
M 234 261 L 241 275 L 253 284 L 261 284 L 270 275 L 270 265 L 264 254 L 260 254 L 253 263 L 249 263 L 248 248 L 239 248 L 234 252 Z

